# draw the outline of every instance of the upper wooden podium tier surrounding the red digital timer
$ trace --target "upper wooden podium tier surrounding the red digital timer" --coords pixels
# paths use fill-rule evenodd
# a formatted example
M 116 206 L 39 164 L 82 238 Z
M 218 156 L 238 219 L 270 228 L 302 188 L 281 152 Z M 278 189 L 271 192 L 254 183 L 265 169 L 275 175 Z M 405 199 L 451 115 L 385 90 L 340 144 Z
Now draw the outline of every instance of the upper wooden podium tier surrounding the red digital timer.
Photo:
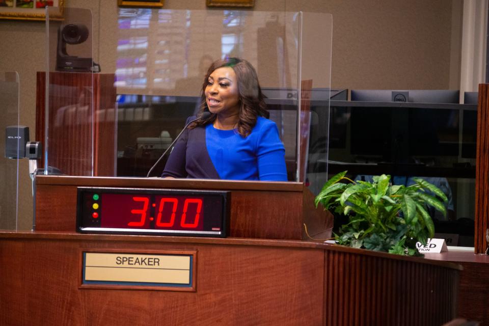
M 316 228 L 333 226 L 332 216 L 314 207 L 314 197 L 302 183 L 40 175 L 36 177 L 36 231 L 76 231 L 78 186 L 230 191 L 232 237 L 300 240 L 304 222 Z

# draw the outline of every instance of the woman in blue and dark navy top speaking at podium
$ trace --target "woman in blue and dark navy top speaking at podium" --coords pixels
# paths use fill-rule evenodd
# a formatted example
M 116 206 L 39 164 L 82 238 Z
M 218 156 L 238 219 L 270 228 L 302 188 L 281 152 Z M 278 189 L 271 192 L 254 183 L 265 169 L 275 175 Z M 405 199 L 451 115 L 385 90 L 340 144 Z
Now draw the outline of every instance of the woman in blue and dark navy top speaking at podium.
M 268 120 L 255 68 L 227 58 L 207 70 L 200 113 L 182 133 L 162 177 L 287 181 L 285 149 Z

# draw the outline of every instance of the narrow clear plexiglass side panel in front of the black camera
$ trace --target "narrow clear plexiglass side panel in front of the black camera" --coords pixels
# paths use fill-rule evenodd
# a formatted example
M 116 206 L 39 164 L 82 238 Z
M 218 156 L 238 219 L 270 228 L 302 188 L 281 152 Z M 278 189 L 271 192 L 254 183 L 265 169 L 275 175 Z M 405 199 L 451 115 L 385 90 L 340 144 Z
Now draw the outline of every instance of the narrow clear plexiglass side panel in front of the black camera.
M 44 174 L 93 176 L 95 139 L 92 12 L 46 8 Z M 96 67 L 95 67 L 96 69 Z

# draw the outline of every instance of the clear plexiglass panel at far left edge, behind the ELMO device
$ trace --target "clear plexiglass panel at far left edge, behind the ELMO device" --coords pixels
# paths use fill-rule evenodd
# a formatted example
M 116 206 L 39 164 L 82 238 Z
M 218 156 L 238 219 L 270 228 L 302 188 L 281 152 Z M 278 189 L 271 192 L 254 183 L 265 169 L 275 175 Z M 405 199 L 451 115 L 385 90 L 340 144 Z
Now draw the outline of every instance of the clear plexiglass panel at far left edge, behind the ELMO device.
M 19 75 L 0 71 L 0 229 L 18 229 L 19 158 L 25 151 L 24 128 L 19 128 Z

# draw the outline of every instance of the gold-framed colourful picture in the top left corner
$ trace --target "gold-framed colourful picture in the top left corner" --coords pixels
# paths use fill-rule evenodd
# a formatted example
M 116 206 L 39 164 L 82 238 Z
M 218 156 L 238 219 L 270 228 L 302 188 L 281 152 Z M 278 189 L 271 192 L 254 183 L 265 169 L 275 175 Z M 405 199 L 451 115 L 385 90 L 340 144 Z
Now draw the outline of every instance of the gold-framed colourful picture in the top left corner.
M 57 7 L 62 18 L 65 0 L 0 0 L 0 19 L 45 20 L 46 6 Z

